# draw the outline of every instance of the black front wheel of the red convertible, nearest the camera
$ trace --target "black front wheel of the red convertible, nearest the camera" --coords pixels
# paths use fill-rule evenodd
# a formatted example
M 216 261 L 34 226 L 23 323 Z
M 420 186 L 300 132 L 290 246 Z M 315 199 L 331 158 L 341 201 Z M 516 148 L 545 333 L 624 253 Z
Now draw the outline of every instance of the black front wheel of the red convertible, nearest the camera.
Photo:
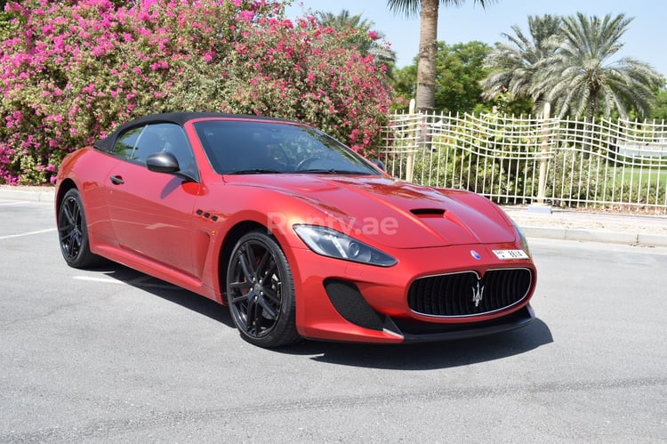
M 227 270 L 227 302 L 241 337 L 264 348 L 301 340 L 292 270 L 274 238 L 251 231 L 238 239 Z

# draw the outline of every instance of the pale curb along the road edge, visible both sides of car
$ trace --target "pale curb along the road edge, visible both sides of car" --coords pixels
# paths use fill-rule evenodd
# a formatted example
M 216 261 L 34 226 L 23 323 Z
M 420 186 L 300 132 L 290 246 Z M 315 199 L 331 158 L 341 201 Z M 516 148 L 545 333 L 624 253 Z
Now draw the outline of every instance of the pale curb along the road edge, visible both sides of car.
M 55 190 L 52 188 L 45 188 L 44 191 L 15 190 L 12 187 L 0 186 L 0 199 L 53 204 L 55 200 Z M 643 246 L 667 246 L 667 236 L 663 235 L 607 230 L 567 229 L 559 227 L 534 227 L 527 224 L 522 225 L 520 222 L 518 222 L 518 225 L 521 227 L 521 230 L 523 230 L 527 238 L 548 238 Z

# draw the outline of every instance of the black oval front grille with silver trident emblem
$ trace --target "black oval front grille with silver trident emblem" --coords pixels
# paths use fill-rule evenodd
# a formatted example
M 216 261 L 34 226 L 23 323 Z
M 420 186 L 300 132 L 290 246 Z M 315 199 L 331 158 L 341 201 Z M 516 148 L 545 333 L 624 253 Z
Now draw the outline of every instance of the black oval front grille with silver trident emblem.
M 500 311 L 521 302 L 530 291 L 528 269 L 488 270 L 482 279 L 474 271 L 417 279 L 407 303 L 429 316 L 475 316 Z

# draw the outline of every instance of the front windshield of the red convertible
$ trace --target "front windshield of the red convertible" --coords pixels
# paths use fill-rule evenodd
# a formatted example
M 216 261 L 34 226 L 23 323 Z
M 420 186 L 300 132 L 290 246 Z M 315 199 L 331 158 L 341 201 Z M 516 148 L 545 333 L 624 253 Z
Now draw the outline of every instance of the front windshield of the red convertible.
M 249 120 L 194 124 L 219 174 L 380 173 L 351 149 L 305 125 Z

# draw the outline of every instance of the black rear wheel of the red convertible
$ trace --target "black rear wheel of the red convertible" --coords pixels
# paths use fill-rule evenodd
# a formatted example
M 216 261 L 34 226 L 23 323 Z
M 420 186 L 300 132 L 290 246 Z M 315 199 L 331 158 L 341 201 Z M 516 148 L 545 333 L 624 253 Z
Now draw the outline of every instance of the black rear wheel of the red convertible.
M 60 253 L 70 267 L 87 268 L 102 262 L 91 253 L 84 204 L 74 188 L 65 193 L 58 207 L 58 238 Z

